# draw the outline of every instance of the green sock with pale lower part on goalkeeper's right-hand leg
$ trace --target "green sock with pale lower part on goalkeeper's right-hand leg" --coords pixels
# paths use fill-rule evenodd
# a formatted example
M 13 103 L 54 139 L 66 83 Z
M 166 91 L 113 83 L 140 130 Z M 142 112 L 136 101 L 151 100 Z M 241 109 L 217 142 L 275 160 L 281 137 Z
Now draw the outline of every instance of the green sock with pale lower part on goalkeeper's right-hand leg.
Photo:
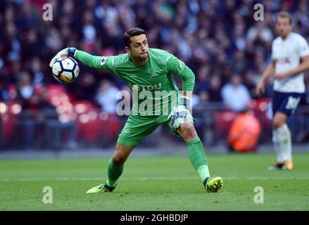
M 191 141 L 187 141 L 187 146 L 189 148 L 190 161 L 201 177 L 201 180 L 204 181 L 206 178 L 210 177 L 210 175 L 203 143 L 199 137 L 196 137 Z

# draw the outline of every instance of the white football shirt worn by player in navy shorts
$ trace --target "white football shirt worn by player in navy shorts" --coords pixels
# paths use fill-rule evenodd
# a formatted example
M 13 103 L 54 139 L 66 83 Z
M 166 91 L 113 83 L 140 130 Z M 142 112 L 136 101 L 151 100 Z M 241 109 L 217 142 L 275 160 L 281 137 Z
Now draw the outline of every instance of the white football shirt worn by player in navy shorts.
M 309 56 L 309 46 L 301 35 L 291 32 L 286 39 L 277 37 L 272 41 L 272 60 L 275 60 L 275 73 L 298 68 L 303 56 Z M 303 73 L 274 80 L 274 90 L 280 92 L 305 92 Z

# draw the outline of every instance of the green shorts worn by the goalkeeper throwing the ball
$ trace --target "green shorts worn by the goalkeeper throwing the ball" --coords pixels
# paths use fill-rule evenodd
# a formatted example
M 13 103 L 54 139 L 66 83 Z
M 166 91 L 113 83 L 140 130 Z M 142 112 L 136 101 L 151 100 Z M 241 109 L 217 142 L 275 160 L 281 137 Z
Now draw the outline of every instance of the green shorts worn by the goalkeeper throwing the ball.
M 195 119 L 191 117 L 191 121 L 194 122 Z M 168 127 L 170 127 L 170 119 L 168 119 L 168 115 L 130 115 L 127 118 L 125 127 L 123 127 L 117 142 L 123 146 L 137 146 L 160 124 L 167 124 Z M 179 135 L 176 128 L 170 127 L 170 129 Z

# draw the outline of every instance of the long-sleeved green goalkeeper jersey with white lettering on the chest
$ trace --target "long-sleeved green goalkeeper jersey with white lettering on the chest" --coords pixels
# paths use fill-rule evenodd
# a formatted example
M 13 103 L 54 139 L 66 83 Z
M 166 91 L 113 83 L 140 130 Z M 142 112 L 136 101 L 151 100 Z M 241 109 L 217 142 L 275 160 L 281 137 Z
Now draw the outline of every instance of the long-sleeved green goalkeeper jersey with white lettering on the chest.
M 134 115 L 166 115 L 175 106 L 178 89 L 172 75 L 182 79 L 182 91 L 193 91 L 194 73 L 182 60 L 167 51 L 149 49 L 146 65 L 134 65 L 129 53 L 118 56 L 92 56 L 77 51 L 77 60 L 89 67 L 108 70 L 121 77 L 132 89 Z

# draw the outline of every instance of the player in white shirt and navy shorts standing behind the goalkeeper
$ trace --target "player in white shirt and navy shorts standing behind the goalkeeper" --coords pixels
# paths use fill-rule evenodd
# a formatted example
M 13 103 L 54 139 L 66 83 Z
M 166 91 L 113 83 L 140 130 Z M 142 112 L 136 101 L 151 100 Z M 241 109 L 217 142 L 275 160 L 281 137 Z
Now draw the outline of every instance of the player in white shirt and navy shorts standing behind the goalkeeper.
M 305 93 L 303 72 L 309 70 L 309 47 L 301 35 L 291 32 L 289 13 L 278 13 L 276 30 L 279 37 L 272 41 L 272 62 L 263 72 L 256 92 L 258 95 L 264 92 L 265 80 L 273 76 L 272 142 L 277 163 L 269 169 L 293 169 L 291 132 L 286 120 L 295 112 Z

